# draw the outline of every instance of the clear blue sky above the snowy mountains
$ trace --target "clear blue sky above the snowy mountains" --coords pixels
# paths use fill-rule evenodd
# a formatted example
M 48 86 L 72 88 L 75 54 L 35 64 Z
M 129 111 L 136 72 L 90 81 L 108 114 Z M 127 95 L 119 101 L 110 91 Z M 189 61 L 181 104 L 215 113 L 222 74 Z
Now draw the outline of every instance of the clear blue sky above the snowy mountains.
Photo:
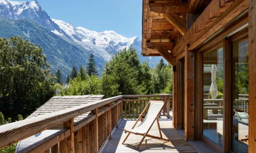
M 26 0 L 13 0 L 26 1 Z M 31 1 L 31 0 L 28 0 Z M 141 39 L 142 0 L 38 0 L 51 18 Z

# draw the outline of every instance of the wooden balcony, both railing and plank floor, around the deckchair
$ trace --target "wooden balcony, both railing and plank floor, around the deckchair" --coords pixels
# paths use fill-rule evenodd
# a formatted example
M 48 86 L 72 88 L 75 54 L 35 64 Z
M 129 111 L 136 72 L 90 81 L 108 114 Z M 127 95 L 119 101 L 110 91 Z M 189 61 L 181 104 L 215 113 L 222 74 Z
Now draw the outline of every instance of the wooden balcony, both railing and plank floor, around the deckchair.
M 0 148 L 55 129 L 56 132 L 18 152 L 196 152 L 172 127 L 170 98 L 169 94 L 121 95 L 6 124 L 0 126 Z M 146 138 L 136 150 L 133 147 L 142 136 L 131 135 L 127 140 L 129 146 L 123 145 L 126 134 L 122 129 L 132 127 L 150 99 L 166 100 L 159 121 L 163 137 L 170 141 Z M 74 122 L 75 117 L 88 112 L 91 113 L 84 119 Z M 156 124 L 149 134 L 159 135 Z

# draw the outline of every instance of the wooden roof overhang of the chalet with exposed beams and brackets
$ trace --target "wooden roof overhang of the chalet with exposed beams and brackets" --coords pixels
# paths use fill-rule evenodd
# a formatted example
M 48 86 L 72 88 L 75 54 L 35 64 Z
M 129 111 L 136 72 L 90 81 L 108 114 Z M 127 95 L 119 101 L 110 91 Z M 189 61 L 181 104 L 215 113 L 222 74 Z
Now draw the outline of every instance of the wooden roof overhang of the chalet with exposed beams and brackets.
M 202 7 L 204 11 L 189 25 L 185 14 Z M 181 58 L 186 45 L 194 50 L 246 9 L 248 0 L 143 0 L 142 55 L 168 55 L 164 58 L 174 63 L 170 60 Z

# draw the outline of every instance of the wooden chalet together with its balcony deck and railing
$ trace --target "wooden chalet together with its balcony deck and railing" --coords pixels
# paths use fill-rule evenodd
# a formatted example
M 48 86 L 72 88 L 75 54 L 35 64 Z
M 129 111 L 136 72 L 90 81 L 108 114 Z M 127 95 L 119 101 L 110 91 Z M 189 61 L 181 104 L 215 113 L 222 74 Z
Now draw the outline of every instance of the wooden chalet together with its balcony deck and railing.
M 253 0 L 142 0 L 142 55 L 173 66 L 173 95 L 119 95 L 2 125 L 0 148 L 62 124 L 19 152 L 255 153 L 255 29 Z M 127 139 L 122 129 L 143 122 L 151 99 L 164 101 L 161 119 Z

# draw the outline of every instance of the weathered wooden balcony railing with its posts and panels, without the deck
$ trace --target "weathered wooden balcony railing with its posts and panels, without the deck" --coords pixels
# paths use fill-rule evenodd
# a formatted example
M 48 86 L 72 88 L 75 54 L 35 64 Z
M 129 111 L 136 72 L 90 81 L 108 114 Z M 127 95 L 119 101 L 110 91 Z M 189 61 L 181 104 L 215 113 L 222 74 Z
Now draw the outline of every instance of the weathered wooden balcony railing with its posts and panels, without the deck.
M 58 132 L 35 142 L 25 149 L 18 151 L 18 153 L 49 153 L 50 150 L 52 153 L 97 153 L 107 140 L 111 138 L 111 133 L 118 125 L 118 121 L 123 116 L 127 116 L 127 110 L 125 110 L 127 104 L 133 106 L 135 104 L 137 106 L 137 109 L 134 109 L 132 106 L 132 111 L 130 106 L 129 112 L 130 115 L 138 116 L 146 106 L 149 98 L 166 99 L 167 102 L 162 114 L 167 116 L 170 107 L 169 96 L 121 95 L 2 125 L 0 126 L 0 149 L 46 129 L 63 124 L 63 126 L 58 126 L 63 127 Z M 123 106 L 123 104 L 125 105 Z M 74 122 L 75 117 L 87 112 L 92 113 L 84 119 Z

